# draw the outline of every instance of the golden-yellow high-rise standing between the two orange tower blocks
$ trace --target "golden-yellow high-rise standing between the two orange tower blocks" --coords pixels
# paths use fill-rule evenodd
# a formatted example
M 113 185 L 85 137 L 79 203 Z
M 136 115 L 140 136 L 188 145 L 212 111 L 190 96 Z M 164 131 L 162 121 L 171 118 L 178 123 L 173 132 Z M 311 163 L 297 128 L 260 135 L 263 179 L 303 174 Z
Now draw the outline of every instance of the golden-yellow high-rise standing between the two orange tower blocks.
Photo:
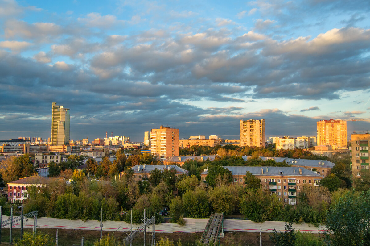
M 265 146 L 265 119 L 240 120 L 240 146 Z

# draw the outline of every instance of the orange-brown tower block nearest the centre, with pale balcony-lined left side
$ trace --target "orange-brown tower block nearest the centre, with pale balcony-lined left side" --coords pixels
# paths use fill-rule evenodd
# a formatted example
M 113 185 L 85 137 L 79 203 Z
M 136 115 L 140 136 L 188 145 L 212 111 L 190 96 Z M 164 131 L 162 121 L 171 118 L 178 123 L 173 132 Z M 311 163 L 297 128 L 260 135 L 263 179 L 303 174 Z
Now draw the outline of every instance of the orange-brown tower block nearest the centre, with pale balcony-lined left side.
M 160 126 L 150 130 L 150 153 L 158 156 L 161 161 L 171 156 L 179 156 L 179 129 Z

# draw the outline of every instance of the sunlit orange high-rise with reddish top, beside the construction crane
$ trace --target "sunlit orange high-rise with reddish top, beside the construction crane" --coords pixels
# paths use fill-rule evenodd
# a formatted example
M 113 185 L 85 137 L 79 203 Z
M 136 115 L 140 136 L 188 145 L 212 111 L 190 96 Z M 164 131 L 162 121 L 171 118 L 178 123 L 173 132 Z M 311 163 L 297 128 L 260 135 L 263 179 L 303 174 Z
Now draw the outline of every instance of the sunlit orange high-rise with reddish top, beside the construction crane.
M 333 149 L 347 148 L 347 122 L 333 119 L 318 121 L 317 145 L 331 145 Z

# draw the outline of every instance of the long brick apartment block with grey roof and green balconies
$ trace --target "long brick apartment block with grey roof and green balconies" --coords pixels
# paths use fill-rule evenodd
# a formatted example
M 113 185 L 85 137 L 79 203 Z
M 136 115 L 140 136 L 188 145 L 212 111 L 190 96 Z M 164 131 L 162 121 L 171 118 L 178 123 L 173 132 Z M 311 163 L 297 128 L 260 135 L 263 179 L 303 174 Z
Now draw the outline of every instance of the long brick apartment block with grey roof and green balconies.
M 319 186 L 323 178 L 320 174 L 314 173 L 305 168 L 299 167 L 240 167 L 223 166 L 231 171 L 235 184 L 245 185 L 244 176 L 246 172 L 258 177 L 260 184 L 269 189 L 271 194 L 277 195 L 284 203 L 296 204 L 296 197 L 300 195 L 303 186 Z M 206 180 L 208 169 L 201 173 L 203 181 Z

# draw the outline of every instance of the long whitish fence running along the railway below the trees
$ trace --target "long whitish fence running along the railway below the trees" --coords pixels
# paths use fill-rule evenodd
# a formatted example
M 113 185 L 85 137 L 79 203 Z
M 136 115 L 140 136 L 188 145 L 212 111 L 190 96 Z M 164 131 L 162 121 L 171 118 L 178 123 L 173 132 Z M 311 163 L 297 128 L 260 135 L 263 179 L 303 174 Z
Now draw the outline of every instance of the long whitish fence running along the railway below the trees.
M 8 216 L 3 216 L 2 220 L 8 219 Z M 180 226 L 175 223 L 161 223 L 155 226 L 157 232 L 171 233 L 171 232 L 203 232 L 208 219 L 191 219 L 185 218 L 185 225 Z M 34 223 L 33 218 L 24 219 L 23 228 L 32 228 Z M 138 225 L 133 225 L 135 229 Z M 9 228 L 9 226 L 6 226 Z M 225 219 L 224 230 L 232 232 L 272 232 L 276 230 L 285 230 L 285 222 L 281 221 L 267 221 L 263 223 L 255 223 L 250 220 Z M 307 223 L 294 224 L 293 227 L 301 232 L 319 233 L 323 229 L 319 229 Z M 20 223 L 13 225 L 13 228 L 20 228 Z M 68 220 L 56 219 L 48 217 L 37 218 L 37 228 L 55 228 L 55 229 L 78 229 L 78 230 L 100 230 L 100 221 L 97 220 Z M 103 221 L 103 230 L 112 232 L 127 232 L 130 230 L 130 224 L 122 221 Z

